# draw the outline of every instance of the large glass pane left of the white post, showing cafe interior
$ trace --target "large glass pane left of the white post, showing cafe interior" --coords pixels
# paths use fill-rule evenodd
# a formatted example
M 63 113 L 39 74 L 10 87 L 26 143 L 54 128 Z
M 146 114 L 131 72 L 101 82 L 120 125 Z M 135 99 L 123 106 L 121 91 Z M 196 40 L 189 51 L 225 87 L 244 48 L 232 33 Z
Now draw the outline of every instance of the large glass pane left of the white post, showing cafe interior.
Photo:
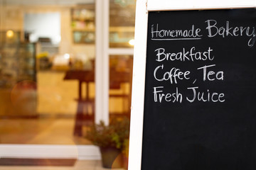
M 0 3 L 0 144 L 91 145 L 95 1 Z

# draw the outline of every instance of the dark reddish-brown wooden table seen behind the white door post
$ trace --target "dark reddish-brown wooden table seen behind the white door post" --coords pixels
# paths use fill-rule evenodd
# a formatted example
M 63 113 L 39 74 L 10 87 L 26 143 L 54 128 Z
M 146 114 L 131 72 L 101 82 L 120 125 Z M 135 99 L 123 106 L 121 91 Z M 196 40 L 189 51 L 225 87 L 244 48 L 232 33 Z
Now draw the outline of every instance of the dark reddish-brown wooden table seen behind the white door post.
M 89 84 L 95 82 L 94 70 L 68 70 L 64 80 L 78 80 L 78 109 L 75 116 L 74 135 L 82 136 L 82 125 L 84 122 L 95 122 L 95 99 L 89 98 Z M 119 89 L 122 83 L 132 83 L 131 72 L 117 72 L 110 69 L 110 89 Z M 82 98 L 82 83 L 86 83 L 85 98 Z M 110 97 L 127 97 L 127 95 L 110 95 Z M 131 89 L 128 95 L 130 106 Z M 88 113 L 88 108 L 92 108 L 92 115 Z

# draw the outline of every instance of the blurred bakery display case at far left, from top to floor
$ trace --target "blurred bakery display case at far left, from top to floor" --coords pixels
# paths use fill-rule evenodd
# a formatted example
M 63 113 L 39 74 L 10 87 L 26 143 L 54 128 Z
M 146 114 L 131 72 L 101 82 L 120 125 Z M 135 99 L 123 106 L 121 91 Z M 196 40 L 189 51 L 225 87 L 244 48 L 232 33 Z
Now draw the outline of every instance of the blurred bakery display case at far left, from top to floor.
M 1 118 L 36 116 L 36 44 L 20 42 L 20 33 L 1 32 Z M 4 38 L 7 37 L 7 38 Z

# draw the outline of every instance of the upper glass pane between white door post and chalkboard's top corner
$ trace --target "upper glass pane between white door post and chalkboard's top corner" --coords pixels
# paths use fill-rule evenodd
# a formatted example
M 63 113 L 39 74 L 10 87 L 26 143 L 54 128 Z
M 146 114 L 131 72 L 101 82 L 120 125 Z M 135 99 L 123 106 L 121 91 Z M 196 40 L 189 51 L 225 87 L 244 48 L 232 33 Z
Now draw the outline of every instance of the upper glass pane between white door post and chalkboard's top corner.
M 110 0 L 110 47 L 133 47 L 135 0 Z

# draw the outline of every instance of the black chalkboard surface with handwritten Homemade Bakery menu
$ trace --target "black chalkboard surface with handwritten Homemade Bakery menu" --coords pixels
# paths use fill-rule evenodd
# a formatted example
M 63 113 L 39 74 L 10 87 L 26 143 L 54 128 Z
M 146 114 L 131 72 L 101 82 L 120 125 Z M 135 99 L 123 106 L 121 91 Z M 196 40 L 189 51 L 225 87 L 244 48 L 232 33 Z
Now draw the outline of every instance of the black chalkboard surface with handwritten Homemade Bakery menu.
M 143 170 L 256 169 L 256 9 L 150 11 Z

